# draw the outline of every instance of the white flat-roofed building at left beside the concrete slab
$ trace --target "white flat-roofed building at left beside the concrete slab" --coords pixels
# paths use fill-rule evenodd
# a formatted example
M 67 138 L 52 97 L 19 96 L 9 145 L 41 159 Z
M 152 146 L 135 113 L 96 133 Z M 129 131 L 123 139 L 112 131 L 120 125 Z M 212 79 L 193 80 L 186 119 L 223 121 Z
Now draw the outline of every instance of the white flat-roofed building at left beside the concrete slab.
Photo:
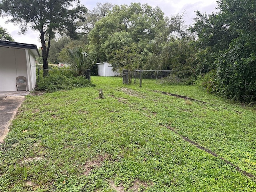
M 16 91 L 18 76 L 26 77 L 27 89 L 33 90 L 38 56 L 36 45 L 0 40 L 0 92 Z

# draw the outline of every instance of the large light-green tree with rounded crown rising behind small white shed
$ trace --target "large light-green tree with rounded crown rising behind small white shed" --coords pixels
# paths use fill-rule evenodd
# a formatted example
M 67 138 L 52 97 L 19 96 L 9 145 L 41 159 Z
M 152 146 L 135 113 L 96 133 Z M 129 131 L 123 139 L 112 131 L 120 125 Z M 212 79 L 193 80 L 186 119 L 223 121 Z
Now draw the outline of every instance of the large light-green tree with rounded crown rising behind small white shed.
M 97 62 L 118 58 L 120 64 L 126 62 L 124 50 L 136 44 L 136 50 L 129 50 L 129 57 L 138 59 L 149 42 L 167 27 L 166 18 L 160 8 L 148 4 L 131 3 L 116 5 L 107 16 L 95 23 L 89 33 L 90 52 Z M 120 54 L 120 55 L 116 55 Z M 137 57 L 131 57 L 136 54 Z M 121 59 L 124 58 L 124 61 Z M 128 66 L 130 68 L 130 65 Z

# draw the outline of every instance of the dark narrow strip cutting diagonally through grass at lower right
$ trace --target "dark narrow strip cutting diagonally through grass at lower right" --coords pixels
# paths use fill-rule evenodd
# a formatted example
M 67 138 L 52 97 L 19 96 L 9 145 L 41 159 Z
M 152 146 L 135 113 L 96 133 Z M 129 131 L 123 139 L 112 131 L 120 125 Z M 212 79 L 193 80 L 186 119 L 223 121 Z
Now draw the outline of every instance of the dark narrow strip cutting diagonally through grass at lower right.
M 200 146 L 198 143 L 190 140 L 189 138 L 183 136 L 183 135 L 180 135 L 174 128 L 170 127 L 170 126 L 167 126 L 167 128 L 169 130 L 171 130 L 172 132 L 176 133 L 177 135 L 181 136 L 185 141 L 191 143 L 192 145 L 196 146 L 197 148 L 201 149 L 201 150 L 204 150 L 205 152 L 211 154 L 212 156 L 214 157 L 218 157 L 220 158 L 221 160 L 224 160 L 227 164 L 231 165 L 232 167 L 234 167 L 238 172 L 241 172 L 243 173 L 245 176 L 247 176 L 248 178 L 251 178 L 252 180 L 256 180 L 256 176 L 254 176 L 253 174 L 247 172 L 247 171 L 244 171 L 242 170 L 239 166 L 236 166 L 235 164 L 231 163 L 230 161 L 220 157 L 218 154 L 212 152 L 211 150 L 207 149 L 207 148 L 204 148 L 203 146 Z

